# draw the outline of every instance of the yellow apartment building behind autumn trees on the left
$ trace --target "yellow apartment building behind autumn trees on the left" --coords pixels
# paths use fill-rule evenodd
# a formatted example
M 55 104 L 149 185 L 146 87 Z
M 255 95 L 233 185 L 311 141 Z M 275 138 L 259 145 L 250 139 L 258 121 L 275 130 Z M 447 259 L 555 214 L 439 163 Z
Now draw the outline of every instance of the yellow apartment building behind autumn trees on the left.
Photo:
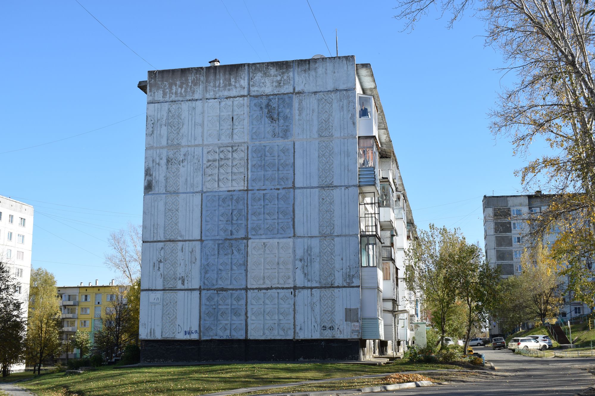
M 78 286 L 58 287 L 60 296 L 60 310 L 62 320 L 62 342 L 70 342 L 74 333 L 78 330 L 90 332 L 91 343 L 96 331 L 102 329 L 103 319 L 112 309 L 112 301 L 115 301 L 121 285 L 116 285 L 114 279 L 107 285 L 100 285 L 95 279 L 95 284 L 89 282 Z M 68 354 L 68 359 L 80 357 L 80 351 L 74 349 Z M 62 354 L 60 359 L 66 359 Z

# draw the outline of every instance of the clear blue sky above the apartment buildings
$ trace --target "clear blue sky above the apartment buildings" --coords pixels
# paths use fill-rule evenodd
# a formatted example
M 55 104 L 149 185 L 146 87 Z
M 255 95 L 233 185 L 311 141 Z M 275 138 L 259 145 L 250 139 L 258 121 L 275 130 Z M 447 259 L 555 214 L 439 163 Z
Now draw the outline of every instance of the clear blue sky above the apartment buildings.
M 157 69 L 328 55 L 306 0 L 224 0 L 249 44 L 220 0 L 79 1 Z M 418 227 L 461 227 L 483 245 L 481 197 L 515 193 L 522 164 L 487 128 L 502 61 L 484 48 L 483 23 L 447 30 L 435 13 L 401 33 L 394 1 L 310 3 L 333 54 L 337 28 L 339 55 L 372 64 Z M 109 231 L 142 221 L 146 96 L 136 84 L 153 68 L 74 0 L 2 8 L 0 194 L 35 206 L 33 266 L 59 285 L 107 283 Z

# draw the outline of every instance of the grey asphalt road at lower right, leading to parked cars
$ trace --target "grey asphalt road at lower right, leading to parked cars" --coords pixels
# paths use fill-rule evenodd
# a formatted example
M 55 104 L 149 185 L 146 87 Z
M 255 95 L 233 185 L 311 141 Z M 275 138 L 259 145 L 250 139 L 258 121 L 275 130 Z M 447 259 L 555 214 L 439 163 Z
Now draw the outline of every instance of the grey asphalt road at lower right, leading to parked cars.
M 574 396 L 595 385 L 595 358 L 537 359 L 520 356 L 508 350 L 493 351 L 491 347 L 474 347 L 494 363 L 495 378 L 478 378 L 456 385 L 403 389 L 374 395 L 568 395 Z M 595 395 L 595 392 L 593 393 Z

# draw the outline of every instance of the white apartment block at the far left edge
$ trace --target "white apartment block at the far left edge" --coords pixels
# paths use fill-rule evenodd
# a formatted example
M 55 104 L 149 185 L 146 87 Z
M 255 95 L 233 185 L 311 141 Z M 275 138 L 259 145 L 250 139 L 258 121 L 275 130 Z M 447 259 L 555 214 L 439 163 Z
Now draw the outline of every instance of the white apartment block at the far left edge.
M 0 196 L 0 256 L 20 283 L 17 297 L 22 301 L 25 317 L 29 310 L 32 241 L 33 206 Z M 23 371 L 24 367 L 23 362 L 13 366 L 12 371 Z

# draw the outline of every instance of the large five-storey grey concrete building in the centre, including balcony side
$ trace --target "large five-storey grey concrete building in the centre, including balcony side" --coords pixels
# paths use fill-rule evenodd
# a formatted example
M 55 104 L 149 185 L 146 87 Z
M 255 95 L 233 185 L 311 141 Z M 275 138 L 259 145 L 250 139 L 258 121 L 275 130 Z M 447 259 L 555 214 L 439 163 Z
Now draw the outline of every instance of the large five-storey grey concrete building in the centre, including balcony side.
M 415 224 L 369 64 L 149 71 L 143 362 L 361 360 L 411 343 Z

